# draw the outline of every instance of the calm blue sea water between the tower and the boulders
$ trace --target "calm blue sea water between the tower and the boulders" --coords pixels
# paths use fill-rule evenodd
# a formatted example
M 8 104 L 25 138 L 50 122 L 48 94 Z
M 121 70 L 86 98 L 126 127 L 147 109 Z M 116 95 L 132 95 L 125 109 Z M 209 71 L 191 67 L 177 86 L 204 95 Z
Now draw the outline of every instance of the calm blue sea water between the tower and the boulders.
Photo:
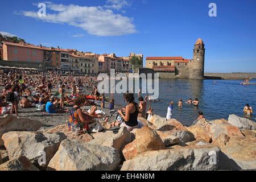
M 174 101 L 173 118 L 184 125 L 191 125 L 197 118 L 198 111 L 203 111 L 205 118 L 228 119 L 230 114 L 243 115 L 243 107 L 249 104 L 256 110 L 256 85 L 240 85 L 242 80 L 159 80 L 159 100 L 152 102 L 154 113 L 166 117 L 168 103 Z M 256 80 L 251 80 L 256 82 Z M 146 96 L 146 94 L 142 94 Z M 138 96 L 136 101 L 138 101 Z M 109 96 L 108 96 L 109 97 Z M 199 107 L 185 104 L 189 98 L 199 98 Z M 115 105 L 125 106 L 122 94 L 114 94 Z M 177 102 L 182 99 L 183 107 Z M 255 115 L 250 117 L 255 121 Z

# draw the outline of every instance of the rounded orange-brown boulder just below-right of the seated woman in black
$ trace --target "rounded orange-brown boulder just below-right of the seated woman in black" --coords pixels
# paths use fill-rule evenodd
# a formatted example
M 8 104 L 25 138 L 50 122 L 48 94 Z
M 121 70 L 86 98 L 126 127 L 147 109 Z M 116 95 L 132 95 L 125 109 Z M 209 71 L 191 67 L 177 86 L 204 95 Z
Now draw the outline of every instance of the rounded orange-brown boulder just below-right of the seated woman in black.
M 156 131 L 147 126 L 143 126 L 136 132 L 136 139 L 125 146 L 123 149 L 123 156 L 125 156 L 126 160 L 129 160 L 143 152 L 150 150 L 162 150 L 165 148 L 166 147 L 164 146 L 162 139 Z

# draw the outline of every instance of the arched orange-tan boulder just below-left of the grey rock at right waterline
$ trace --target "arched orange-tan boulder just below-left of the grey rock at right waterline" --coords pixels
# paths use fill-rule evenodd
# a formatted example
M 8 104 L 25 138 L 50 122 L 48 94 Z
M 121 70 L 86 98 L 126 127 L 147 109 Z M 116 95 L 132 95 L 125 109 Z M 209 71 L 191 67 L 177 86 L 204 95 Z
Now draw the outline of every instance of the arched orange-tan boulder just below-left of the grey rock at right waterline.
M 218 136 L 220 136 L 221 133 L 224 133 L 228 135 L 229 137 L 243 137 L 243 134 L 241 131 L 238 129 L 238 127 L 231 125 L 228 122 L 225 121 L 215 121 L 213 125 L 210 126 L 209 129 L 209 137 L 212 138 L 214 141 Z

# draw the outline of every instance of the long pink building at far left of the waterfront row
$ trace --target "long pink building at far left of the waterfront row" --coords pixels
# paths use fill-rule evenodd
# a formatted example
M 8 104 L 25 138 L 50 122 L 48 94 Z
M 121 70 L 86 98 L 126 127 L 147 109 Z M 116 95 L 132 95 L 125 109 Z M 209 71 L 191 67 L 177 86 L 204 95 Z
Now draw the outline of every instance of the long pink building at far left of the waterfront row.
M 34 46 L 24 42 L 3 43 L 3 60 L 6 61 L 24 61 L 32 63 L 43 63 L 43 48 L 42 46 Z

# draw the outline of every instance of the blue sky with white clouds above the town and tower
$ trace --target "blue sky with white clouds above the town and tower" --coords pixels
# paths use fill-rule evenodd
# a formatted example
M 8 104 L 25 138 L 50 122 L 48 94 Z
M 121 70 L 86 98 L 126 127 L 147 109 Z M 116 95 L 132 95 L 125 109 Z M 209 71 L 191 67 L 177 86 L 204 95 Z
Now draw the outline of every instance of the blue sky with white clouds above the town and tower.
M 45 3 L 46 16 L 39 16 Z M 216 3 L 217 16 L 209 16 Z M 40 11 L 42 12 L 42 11 Z M 205 72 L 256 72 L 255 0 L 1 1 L 0 32 L 79 51 L 193 58 L 205 43 Z

